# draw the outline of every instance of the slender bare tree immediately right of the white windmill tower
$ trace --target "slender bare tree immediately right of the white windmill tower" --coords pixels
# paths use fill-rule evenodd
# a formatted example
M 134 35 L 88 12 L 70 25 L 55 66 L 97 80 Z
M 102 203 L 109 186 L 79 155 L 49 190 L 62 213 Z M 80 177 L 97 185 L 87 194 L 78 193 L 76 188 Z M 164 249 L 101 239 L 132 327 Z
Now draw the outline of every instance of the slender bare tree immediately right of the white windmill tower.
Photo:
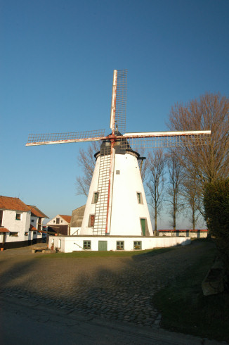
M 163 189 L 164 189 L 164 166 L 165 156 L 162 149 L 148 153 L 148 187 L 150 206 L 152 206 L 153 218 L 155 220 L 155 232 L 157 233 L 157 217 L 162 210 Z

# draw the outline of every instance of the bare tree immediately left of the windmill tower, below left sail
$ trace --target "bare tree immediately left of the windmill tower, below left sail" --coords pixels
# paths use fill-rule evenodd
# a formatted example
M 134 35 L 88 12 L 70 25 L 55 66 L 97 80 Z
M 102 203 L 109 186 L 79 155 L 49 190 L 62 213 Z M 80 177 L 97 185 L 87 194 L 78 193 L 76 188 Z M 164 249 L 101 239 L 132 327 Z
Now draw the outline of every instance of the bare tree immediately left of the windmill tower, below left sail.
M 91 179 L 93 175 L 93 171 L 96 164 L 96 158 L 94 154 L 100 151 L 100 142 L 92 142 L 88 149 L 80 149 L 78 164 L 82 168 L 84 175 L 77 176 L 77 194 L 82 194 L 88 196 L 89 188 L 91 185 Z

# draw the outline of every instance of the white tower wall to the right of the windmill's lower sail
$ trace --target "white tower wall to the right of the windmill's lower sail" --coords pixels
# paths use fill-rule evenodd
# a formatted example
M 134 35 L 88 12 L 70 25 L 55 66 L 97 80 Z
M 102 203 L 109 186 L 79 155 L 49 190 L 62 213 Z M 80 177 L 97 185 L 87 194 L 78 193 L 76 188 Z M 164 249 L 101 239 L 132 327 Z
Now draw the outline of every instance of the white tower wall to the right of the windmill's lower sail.
M 140 193 L 141 203 L 138 203 L 137 193 Z M 141 236 L 140 218 L 147 220 L 148 232 L 152 236 L 150 214 L 138 160 L 130 153 L 117 154 L 114 160 L 110 234 Z

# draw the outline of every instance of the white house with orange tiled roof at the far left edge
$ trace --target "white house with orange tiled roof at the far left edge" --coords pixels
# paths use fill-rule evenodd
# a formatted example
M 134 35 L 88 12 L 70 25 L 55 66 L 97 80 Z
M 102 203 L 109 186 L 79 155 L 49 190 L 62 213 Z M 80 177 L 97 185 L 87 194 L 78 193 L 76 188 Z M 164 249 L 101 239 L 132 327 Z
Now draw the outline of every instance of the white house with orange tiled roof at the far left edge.
M 11 249 L 41 242 L 39 232 L 47 216 L 19 198 L 0 196 L 0 248 Z M 1 249 L 1 250 L 2 250 Z

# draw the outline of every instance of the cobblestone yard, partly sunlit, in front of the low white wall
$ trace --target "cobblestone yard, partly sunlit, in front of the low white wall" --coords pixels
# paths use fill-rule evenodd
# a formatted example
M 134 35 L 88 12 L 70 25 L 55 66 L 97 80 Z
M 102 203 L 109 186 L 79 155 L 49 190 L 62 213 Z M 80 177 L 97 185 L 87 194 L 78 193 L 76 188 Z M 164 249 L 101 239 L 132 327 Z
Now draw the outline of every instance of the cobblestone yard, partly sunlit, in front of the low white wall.
M 152 296 L 188 270 L 204 242 L 159 255 L 53 258 L 29 247 L 0 252 L 0 291 L 25 301 L 137 325 L 159 325 Z

